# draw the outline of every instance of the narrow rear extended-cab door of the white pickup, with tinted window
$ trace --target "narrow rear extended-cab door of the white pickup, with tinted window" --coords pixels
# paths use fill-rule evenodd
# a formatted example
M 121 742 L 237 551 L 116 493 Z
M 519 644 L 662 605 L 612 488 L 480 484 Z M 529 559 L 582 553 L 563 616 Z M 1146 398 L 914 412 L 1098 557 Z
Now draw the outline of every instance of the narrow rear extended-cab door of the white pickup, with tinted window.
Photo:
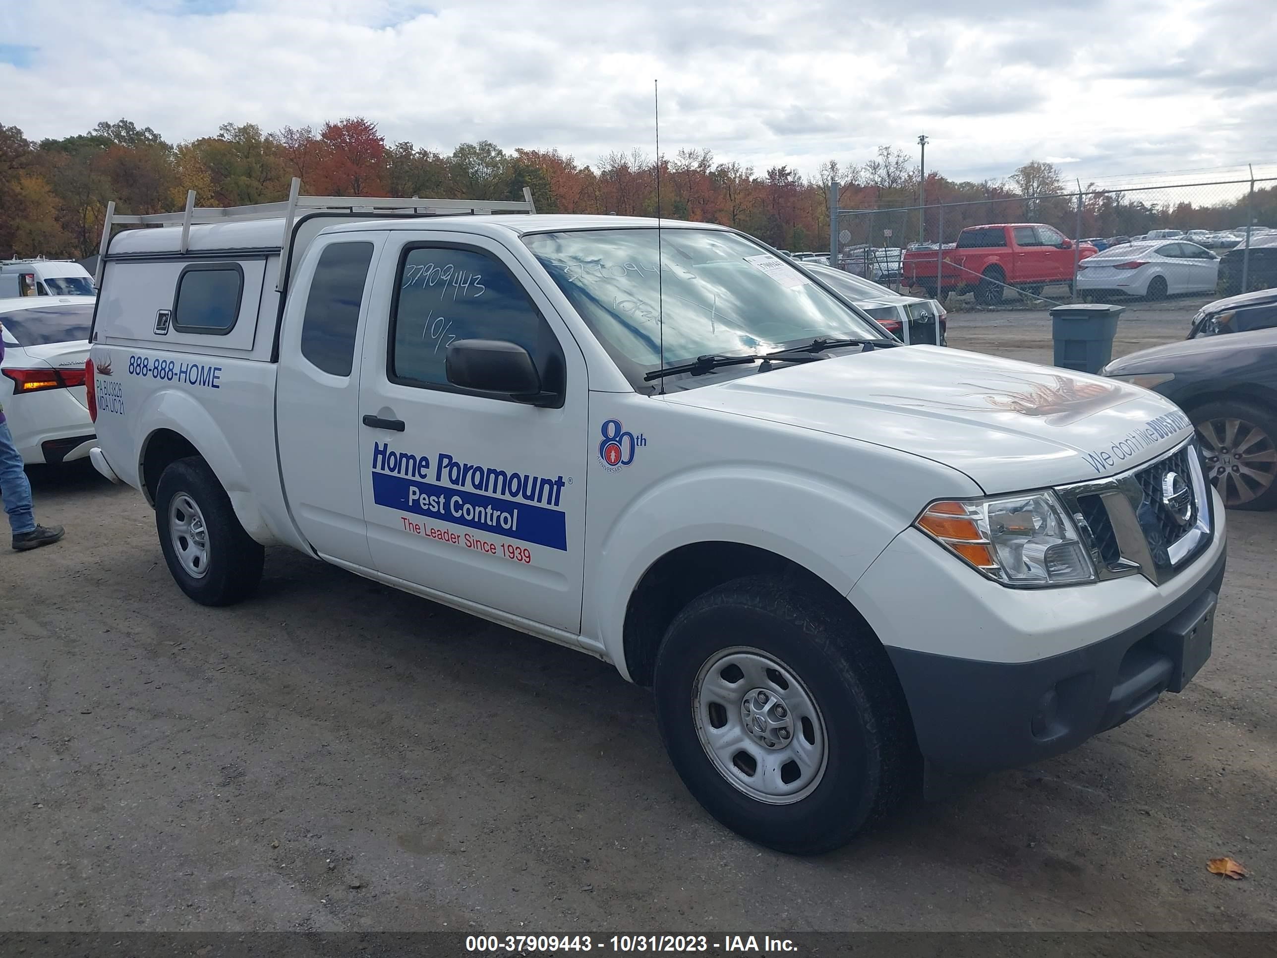
M 312 244 L 289 298 L 275 400 L 292 520 L 321 556 L 361 568 L 373 562 L 360 493 L 358 356 L 384 243 L 384 232 L 361 232 Z

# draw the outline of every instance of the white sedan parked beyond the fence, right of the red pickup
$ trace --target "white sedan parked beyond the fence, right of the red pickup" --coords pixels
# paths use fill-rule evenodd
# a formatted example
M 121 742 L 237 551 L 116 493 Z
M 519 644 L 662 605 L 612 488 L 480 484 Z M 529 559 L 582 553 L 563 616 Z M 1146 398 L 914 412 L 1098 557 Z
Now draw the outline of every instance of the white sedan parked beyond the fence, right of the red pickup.
M 1122 244 L 1078 263 L 1078 293 L 1125 293 L 1166 299 L 1181 293 L 1213 293 L 1220 257 L 1185 240 L 1143 240 Z

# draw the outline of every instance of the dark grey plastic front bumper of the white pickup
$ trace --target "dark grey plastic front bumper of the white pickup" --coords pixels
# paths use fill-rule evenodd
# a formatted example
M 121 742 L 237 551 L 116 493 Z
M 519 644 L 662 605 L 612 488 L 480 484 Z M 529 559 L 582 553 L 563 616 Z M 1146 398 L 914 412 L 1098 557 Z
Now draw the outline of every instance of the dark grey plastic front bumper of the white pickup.
M 982 662 L 888 648 L 928 770 L 973 775 L 1059 755 L 1181 691 L 1211 654 L 1226 561 L 1220 548 L 1157 613 L 1048 658 Z

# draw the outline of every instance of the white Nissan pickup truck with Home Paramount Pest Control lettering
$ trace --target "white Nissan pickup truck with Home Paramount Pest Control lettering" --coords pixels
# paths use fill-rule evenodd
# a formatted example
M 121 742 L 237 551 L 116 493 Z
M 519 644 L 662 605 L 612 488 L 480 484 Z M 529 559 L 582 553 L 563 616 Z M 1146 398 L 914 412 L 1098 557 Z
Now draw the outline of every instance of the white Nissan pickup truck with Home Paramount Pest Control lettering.
M 197 602 L 286 544 L 596 655 L 799 853 L 1209 655 L 1225 513 L 1153 392 L 899 346 L 719 226 L 305 201 L 103 235 L 92 460 Z

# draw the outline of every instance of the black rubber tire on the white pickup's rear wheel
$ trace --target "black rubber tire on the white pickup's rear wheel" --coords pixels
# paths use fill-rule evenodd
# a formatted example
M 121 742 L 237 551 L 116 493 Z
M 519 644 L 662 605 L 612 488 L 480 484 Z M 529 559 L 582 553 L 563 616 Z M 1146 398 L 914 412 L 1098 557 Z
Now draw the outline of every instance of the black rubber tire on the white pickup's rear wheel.
M 179 497 L 189 497 L 203 526 L 207 544 L 204 561 L 198 563 L 189 556 L 186 559 L 203 568 L 202 574 L 188 571 L 179 554 L 179 549 L 184 547 L 180 525 L 179 533 L 174 534 L 175 521 L 180 524 L 183 519 L 188 519 L 180 503 L 176 519 L 174 517 L 174 501 Z M 208 464 L 198 456 L 170 462 L 160 475 L 156 531 L 160 534 L 160 548 L 169 572 L 181 590 L 200 605 L 232 605 L 257 591 L 262 581 L 266 551 L 244 531 L 226 490 Z

